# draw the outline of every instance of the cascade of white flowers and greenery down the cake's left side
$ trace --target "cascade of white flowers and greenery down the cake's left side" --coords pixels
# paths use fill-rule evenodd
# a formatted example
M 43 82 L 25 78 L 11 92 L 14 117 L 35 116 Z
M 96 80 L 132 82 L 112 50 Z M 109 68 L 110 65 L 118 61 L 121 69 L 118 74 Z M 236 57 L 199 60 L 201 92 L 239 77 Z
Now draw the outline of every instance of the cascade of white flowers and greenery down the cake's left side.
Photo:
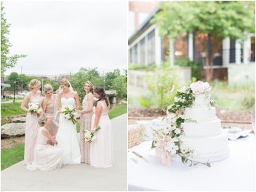
M 157 148 L 166 156 L 180 156 L 183 163 L 191 162 L 190 166 L 205 164 L 210 167 L 209 162 L 202 163 L 193 161 L 193 151 L 183 145 L 180 136 L 183 135 L 182 123 L 185 122 L 183 115 L 185 108 L 190 107 L 195 100 L 193 86 L 182 87 L 177 90 L 175 102 L 167 108 L 167 116 L 161 118 L 163 127 L 153 128 L 153 141 L 151 148 Z

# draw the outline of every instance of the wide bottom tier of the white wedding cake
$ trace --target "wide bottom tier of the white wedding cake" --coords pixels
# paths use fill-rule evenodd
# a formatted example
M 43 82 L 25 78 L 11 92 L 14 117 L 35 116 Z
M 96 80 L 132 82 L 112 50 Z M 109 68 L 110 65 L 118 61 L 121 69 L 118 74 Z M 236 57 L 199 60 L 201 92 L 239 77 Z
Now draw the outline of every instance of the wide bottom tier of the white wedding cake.
M 181 137 L 181 140 L 193 150 L 194 161 L 220 161 L 229 156 L 228 135 L 225 132 L 209 137 Z

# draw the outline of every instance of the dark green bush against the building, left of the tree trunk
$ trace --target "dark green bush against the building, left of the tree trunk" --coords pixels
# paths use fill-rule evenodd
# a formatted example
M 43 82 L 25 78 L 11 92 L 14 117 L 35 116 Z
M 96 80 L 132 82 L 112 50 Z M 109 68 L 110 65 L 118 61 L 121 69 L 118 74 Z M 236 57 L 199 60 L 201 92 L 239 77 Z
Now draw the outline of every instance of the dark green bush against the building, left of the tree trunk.
M 191 67 L 191 76 L 197 80 L 201 79 L 201 65 L 196 61 L 188 60 L 188 58 L 179 58 L 175 60 L 175 65 L 181 67 Z

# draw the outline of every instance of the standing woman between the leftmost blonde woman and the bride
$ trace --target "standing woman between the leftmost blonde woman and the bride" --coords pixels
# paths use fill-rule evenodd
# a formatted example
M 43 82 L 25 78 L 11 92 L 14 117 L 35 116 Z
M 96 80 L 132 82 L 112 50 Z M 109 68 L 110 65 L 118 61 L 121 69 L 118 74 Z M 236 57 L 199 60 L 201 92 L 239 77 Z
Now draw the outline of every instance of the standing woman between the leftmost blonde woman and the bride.
M 52 92 L 53 92 L 52 86 L 50 84 L 45 84 L 44 85 L 45 97 L 43 100 L 42 108 L 43 108 L 44 114 L 49 119 L 49 123 L 45 128 L 48 129 L 50 135 L 56 136 L 57 126 L 53 121 L 54 121 L 55 104 L 57 105 L 57 103 L 55 103 L 55 99 L 57 96 L 55 94 L 52 94 Z M 53 145 L 51 141 L 48 141 L 47 143 L 50 145 Z

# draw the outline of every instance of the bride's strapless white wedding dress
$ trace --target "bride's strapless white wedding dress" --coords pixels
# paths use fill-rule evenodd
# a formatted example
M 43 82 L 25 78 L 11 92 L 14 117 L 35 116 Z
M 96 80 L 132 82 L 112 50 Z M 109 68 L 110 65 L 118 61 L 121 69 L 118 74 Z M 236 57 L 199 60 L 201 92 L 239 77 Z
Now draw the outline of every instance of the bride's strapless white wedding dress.
M 76 101 L 73 97 L 66 99 L 61 97 L 61 107 L 76 107 Z M 79 145 L 79 137 L 76 133 L 76 124 L 65 119 L 63 113 L 60 113 L 59 128 L 56 135 L 57 145 L 63 151 L 63 164 L 80 164 L 81 153 Z

